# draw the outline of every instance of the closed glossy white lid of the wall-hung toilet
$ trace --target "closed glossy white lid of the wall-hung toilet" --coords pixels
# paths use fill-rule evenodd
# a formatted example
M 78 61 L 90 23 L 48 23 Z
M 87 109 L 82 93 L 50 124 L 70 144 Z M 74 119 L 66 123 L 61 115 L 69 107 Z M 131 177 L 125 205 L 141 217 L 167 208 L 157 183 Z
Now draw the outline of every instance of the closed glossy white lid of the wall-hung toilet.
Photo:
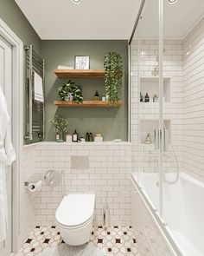
M 92 217 L 95 194 L 68 194 L 55 213 L 63 226 L 78 226 Z

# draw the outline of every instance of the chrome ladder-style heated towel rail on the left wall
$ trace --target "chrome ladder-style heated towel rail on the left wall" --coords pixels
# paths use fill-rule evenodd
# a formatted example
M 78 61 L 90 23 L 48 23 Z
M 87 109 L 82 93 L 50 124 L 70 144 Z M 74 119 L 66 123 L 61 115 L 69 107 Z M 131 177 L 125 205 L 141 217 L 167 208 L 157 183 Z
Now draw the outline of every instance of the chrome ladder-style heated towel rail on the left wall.
M 32 141 L 34 138 L 45 136 L 45 103 L 35 100 L 35 73 L 40 75 L 44 98 L 45 61 L 38 56 L 33 45 L 24 47 L 26 51 L 26 110 L 24 139 Z

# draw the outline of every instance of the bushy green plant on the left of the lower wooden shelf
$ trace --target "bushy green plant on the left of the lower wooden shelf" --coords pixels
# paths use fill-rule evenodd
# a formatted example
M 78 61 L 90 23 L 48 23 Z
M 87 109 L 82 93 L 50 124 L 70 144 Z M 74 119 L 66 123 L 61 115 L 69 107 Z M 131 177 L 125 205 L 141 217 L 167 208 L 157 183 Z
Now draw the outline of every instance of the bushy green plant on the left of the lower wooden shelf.
M 73 95 L 73 102 L 83 102 L 82 89 L 80 85 L 76 84 L 71 79 L 67 82 L 63 82 L 61 87 L 58 88 L 58 95 L 60 95 L 61 101 L 66 101 L 69 94 Z

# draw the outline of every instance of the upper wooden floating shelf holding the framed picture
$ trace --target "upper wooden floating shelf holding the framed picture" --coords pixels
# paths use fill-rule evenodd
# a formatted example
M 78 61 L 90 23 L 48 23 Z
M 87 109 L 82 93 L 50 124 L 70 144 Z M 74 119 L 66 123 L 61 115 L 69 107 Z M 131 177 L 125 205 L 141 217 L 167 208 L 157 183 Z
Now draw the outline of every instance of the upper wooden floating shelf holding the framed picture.
M 104 69 L 54 69 L 59 78 L 104 78 Z

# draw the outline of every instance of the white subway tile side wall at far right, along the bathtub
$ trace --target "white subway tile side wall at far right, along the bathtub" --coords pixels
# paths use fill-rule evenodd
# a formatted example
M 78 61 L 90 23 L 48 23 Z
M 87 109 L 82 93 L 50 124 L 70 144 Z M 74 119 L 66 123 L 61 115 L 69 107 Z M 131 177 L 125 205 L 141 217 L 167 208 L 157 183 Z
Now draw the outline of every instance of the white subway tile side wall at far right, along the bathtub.
M 204 181 L 204 19 L 183 49 L 183 167 Z

